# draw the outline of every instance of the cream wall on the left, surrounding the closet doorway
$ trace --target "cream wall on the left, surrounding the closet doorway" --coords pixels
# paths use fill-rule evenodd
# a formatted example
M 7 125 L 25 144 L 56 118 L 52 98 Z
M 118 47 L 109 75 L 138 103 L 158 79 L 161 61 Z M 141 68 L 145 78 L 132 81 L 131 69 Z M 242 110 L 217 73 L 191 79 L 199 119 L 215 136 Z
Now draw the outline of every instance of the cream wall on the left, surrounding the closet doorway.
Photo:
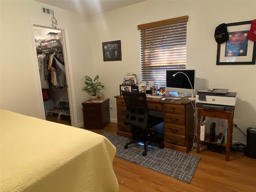
M 43 117 L 40 113 L 30 22 L 52 24 L 52 16 L 41 14 L 41 5 L 32 0 L 0 1 L 0 108 L 38 118 Z M 71 66 L 77 122 L 82 125 L 81 103 L 90 98 L 82 91 L 84 75 L 94 75 L 88 18 L 60 8 L 46 7 L 54 10 L 57 27 L 65 28 L 68 32 L 70 62 L 66 64 Z

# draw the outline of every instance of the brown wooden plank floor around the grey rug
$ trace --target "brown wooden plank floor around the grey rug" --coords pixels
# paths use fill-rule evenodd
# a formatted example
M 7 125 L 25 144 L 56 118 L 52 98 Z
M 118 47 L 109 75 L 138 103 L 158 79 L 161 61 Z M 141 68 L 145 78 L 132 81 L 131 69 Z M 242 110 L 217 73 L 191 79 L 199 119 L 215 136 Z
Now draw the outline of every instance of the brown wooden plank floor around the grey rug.
M 116 130 L 117 124 L 110 122 L 104 130 L 91 131 L 116 134 Z M 201 157 L 190 184 L 115 157 L 120 192 L 256 192 L 256 159 L 231 152 L 226 162 L 224 154 L 206 147 L 199 154 L 189 154 Z

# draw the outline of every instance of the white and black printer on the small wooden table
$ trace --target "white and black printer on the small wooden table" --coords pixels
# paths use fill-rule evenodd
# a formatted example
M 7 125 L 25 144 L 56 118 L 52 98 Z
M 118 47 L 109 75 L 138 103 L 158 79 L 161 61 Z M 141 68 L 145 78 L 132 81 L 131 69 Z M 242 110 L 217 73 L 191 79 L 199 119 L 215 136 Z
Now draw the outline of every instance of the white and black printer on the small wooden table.
M 197 91 L 196 107 L 234 111 L 235 106 L 236 92 L 228 92 L 228 89 L 202 89 Z

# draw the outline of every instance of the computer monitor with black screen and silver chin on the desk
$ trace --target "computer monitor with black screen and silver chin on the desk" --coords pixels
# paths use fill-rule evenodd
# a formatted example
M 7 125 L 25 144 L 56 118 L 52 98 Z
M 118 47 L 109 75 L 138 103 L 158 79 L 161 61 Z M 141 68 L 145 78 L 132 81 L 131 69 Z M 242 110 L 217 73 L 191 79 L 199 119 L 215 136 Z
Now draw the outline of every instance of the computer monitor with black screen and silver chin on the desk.
M 173 76 L 176 74 L 175 76 Z M 191 82 L 188 81 L 188 78 Z M 191 87 L 192 86 L 192 87 Z M 185 93 L 192 94 L 196 87 L 195 69 L 166 70 L 166 92 L 174 92 L 173 96 L 184 97 Z

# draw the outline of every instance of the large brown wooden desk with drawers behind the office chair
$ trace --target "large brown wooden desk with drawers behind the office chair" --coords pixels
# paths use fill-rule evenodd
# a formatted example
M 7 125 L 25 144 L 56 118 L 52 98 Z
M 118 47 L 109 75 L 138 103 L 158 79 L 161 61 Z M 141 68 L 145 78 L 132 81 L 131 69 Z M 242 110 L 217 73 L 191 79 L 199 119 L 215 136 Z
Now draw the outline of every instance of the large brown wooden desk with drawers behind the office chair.
M 126 104 L 123 96 L 115 96 L 117 107 L 117 135 L 133 138 L 137 128 L 124 124 Z M 194 139 L 194 108 L 191 101 L 185 98 L 175 102 L 162 101 L 158 98 L 147 98 L 148 109 L 163 112 L 164 147 L 185 152 L 191 148 Z

